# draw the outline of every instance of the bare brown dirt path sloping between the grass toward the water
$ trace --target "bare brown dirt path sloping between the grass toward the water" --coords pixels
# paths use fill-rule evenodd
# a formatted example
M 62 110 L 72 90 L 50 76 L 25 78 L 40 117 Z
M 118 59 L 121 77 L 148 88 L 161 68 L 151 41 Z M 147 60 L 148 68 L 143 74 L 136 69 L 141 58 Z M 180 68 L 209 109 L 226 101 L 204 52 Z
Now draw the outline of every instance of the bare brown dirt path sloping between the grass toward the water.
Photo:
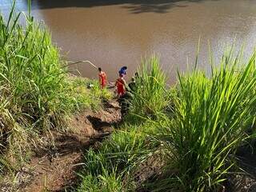
M 35 151 L 34 157 L 0 191 L 64 191 L 78 182 L 82 152 L 109 135 L 121 120 L 118 102 L 104 102 L 104 110 L 84 111 L 70 119 L 70 131 L 52 132 L 53 142 Z M 49 137 L 47 137 L 49 139 Z

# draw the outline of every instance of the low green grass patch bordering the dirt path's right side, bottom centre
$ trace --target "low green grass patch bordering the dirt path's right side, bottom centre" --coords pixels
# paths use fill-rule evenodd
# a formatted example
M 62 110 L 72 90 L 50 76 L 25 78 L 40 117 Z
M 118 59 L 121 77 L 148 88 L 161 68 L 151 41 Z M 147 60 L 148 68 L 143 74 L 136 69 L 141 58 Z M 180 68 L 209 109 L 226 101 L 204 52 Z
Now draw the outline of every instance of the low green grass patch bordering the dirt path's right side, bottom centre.
M 155 144 L 141 130 L 144 126 L 137 128 L 117 130 L 98 150 L 86 151 L 78 191 L 134 191 L 134 178 L 130 175 Z

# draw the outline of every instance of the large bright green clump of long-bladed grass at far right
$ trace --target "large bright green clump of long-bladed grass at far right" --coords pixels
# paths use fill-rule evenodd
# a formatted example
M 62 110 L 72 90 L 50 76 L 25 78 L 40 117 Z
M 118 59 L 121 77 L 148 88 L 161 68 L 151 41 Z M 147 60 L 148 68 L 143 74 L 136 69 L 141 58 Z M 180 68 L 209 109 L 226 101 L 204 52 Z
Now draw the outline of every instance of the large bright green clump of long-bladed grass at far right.
M 254 137 L 246 133 L 255 116 L 255 53 L 242 69 L 241 64 L 231 51 L 210 78 L 198 70 L 178 74 L 174 118 L 156 137 L 169 157 L 169 176 L 156 191 L 222 189 L 235 150 Z

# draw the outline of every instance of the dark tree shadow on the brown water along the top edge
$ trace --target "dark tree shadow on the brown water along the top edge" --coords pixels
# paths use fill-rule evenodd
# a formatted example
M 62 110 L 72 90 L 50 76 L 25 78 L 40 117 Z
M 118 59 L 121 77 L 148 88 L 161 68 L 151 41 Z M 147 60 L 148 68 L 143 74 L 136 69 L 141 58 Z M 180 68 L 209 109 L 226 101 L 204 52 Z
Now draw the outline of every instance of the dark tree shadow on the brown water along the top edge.
M 94 6 L 122 6 L 124 9 L 130 10 L 132 14 L 141 13 L 167 13 L 174 7 L 186 7 L 188 2 L 205 2 L 218 0 L 32 0 L 33 9 L 53 9 L 65 7 L 94 7 Z M 26 2 L 26 0 L 24 0 Z

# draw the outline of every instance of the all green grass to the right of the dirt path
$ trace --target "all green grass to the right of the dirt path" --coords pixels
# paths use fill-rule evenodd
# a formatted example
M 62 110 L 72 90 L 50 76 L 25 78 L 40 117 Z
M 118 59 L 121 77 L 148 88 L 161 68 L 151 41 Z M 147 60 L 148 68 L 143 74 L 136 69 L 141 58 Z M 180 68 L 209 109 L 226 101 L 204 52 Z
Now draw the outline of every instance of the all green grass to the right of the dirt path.
M 209 77 L 197 69 L 178 74 L 171 89 L 158 58 L 143 63 L 126 124 L 86 152 L 79 190 L 222 190 L 237 166 L 236 150 L 254 138 L 248 133 L 254 133 L 255 54 L 246 65 L 241 58 L 230 50 Z M 152 159 L 161 171 L 153 180 L 136 181 L 136 171 Z

